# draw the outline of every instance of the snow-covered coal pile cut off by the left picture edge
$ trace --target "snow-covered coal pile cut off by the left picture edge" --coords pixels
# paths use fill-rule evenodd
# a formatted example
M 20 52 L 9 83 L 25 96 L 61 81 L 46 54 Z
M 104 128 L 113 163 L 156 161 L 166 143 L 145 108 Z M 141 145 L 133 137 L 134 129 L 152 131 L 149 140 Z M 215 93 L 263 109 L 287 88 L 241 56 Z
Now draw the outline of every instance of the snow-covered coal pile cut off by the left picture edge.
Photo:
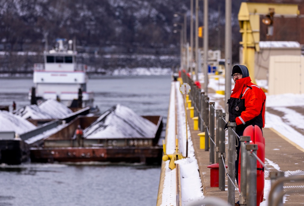
M 23 134 L 36 126 L 17 115 L 14 115 L 7 111 L 0 110 L 0 131 L 9 132 L 15 131 L 17 134 Z

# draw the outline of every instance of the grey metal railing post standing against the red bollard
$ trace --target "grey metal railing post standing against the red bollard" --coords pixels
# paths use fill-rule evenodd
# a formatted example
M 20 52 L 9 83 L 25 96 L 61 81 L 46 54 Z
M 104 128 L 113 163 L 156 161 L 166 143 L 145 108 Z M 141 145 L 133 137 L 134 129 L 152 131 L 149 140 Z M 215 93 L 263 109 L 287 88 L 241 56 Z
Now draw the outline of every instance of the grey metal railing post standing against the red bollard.
M 225 131 L 223 131 L 224 128 L 224 120 L 221 118 L 225 118 L 226 113 L 218 113 L 219 115 L 219 121 L 218 121 L 218 127 L 219 127 L 219 141 L 218 141 L 218 189 L 220 191 L 225 191 Z M 222 161 L 222 156 L 224 159 L 224 163 Z

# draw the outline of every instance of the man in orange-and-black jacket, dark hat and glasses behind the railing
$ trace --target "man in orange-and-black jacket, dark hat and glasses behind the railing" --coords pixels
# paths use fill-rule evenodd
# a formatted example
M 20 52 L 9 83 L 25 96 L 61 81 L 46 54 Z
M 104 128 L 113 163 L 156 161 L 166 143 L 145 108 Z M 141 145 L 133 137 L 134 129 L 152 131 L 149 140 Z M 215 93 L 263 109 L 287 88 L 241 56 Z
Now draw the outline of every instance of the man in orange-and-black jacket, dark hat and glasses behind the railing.
M 249 71 L 244 65 L 235 65 L 232 68 L 235 86 L 227 104 L 229 105 L 229 122 L 236 122 L 236 133 L 243 136 L 248 125 L 257 125 L 261 129 L 265 126 L 265 101 L 264 91 L 251 82 Z M 238 138 L 237 138 L 238 139 Z M 239 148 L 236 147 L 236 182 L 238 183 Z

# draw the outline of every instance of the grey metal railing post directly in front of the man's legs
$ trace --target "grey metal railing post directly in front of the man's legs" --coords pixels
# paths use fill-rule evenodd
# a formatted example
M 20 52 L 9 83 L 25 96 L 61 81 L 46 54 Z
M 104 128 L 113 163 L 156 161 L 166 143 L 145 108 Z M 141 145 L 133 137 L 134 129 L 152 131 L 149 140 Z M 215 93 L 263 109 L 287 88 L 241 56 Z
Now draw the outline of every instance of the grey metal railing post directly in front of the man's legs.
M 236 149 L 236 135 L 232 130 L 236 130 L 235 122 L 228 122 L 228 175 L 232 179 L 228 181 L 228 203 L 235 203 L 235 149 Z

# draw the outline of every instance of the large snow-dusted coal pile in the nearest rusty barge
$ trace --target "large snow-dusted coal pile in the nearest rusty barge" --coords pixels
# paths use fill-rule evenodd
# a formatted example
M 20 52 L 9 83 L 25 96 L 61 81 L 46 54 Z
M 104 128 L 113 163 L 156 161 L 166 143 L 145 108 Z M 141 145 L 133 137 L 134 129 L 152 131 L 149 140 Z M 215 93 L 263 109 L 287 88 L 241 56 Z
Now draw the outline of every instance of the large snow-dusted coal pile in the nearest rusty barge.
M 86 138 L 151 138 L 156 125 L 130 108 L 114 105 L 84 130 Z

